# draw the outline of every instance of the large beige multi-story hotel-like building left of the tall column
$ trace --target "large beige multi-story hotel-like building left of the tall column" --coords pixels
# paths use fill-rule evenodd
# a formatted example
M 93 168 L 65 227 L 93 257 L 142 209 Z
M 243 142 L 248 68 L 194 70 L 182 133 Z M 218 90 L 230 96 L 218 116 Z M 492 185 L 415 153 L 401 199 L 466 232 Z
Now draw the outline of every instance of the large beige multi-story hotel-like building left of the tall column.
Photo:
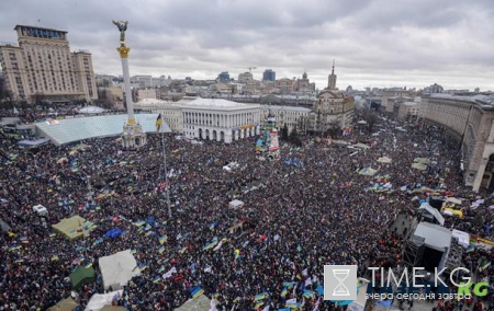
M 91 54 L 70 53 L 67 32 L 16 25 L 18 43 L 0 45 L 0 65 L 14 100 L 98 99 Z

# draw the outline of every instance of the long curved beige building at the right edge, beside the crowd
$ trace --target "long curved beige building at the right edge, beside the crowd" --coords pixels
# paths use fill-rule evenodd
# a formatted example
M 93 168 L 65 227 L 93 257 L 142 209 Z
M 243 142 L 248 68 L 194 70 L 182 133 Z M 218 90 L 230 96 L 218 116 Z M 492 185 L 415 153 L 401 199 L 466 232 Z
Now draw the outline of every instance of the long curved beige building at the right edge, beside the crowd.
M 420 119 L 445 127 L 459 140 L 464 184 L 494 187 L 494 96 L 424 96 Z

